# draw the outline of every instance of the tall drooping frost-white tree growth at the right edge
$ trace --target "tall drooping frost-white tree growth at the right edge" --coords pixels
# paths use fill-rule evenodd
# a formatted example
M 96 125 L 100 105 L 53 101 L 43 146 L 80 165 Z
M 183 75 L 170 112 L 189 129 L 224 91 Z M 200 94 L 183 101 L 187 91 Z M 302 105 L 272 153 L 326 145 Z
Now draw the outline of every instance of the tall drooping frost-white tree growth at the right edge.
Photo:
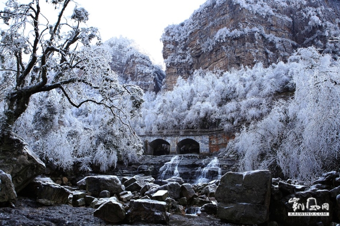
M 261 121 L 242 130 L 228 148 L 241 156 L 240 170 L 278 165 L 288 178 L 311 180 L 339 166 L 339 65 L 315 48 L 299 49 L 294 98 L 277 103 Z

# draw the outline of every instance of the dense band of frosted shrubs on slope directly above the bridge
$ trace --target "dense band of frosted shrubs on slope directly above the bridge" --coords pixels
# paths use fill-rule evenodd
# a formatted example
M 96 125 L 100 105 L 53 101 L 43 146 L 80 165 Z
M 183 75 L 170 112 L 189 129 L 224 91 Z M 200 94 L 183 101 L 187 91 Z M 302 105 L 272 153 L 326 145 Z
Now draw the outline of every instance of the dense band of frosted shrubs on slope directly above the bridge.
M 197 129 L 227 126 L 267 115 L 272 94 L 293 89 L 296 62 L 264 68 L 256 64 L 230 72 L 196 70 L 187 81 L 179 78 L 172 91 L 145 94 L 140 126 L 153 129 Z

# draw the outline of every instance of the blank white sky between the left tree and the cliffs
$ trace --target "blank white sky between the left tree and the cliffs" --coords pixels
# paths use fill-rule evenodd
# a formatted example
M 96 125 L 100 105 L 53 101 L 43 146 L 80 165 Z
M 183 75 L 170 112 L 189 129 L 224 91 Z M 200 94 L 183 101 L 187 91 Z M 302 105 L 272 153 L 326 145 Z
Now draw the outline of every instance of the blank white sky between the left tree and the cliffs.
M 163 64 L 159 40 L 170 24 L 179 24 L 206 0 L 78 0 L 90 14 L 86 22 L 98 27 L 102 40 L 127 37 L 146 52 L 155 64 Z

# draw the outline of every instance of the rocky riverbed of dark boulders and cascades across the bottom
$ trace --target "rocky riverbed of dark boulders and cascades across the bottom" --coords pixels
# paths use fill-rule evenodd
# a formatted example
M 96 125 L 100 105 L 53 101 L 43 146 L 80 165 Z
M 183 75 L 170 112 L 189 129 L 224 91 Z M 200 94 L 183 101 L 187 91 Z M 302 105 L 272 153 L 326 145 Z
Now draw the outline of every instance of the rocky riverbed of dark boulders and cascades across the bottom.
M 11 176 L 0 172 L 0 226 L 335 226 L 340 222 L 339 172 L 326 173 L 312 183 L 272 178 L 268 170 L 225 172 L 235 165 L 232 159 L 145 156 L 111 175 L 77 177 L 48 167 L 18 197 Z

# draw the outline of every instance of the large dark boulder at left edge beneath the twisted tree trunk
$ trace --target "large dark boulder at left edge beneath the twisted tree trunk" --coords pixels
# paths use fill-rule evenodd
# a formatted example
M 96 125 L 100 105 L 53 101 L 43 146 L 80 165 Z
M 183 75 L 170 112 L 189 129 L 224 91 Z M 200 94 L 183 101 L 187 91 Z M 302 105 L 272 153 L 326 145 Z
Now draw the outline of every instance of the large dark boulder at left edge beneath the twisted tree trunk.
M 44 173 L 45 168 L 45 164 L 15 134 L 0 146 L 0 169 L 11 175 L 17 193 Z

